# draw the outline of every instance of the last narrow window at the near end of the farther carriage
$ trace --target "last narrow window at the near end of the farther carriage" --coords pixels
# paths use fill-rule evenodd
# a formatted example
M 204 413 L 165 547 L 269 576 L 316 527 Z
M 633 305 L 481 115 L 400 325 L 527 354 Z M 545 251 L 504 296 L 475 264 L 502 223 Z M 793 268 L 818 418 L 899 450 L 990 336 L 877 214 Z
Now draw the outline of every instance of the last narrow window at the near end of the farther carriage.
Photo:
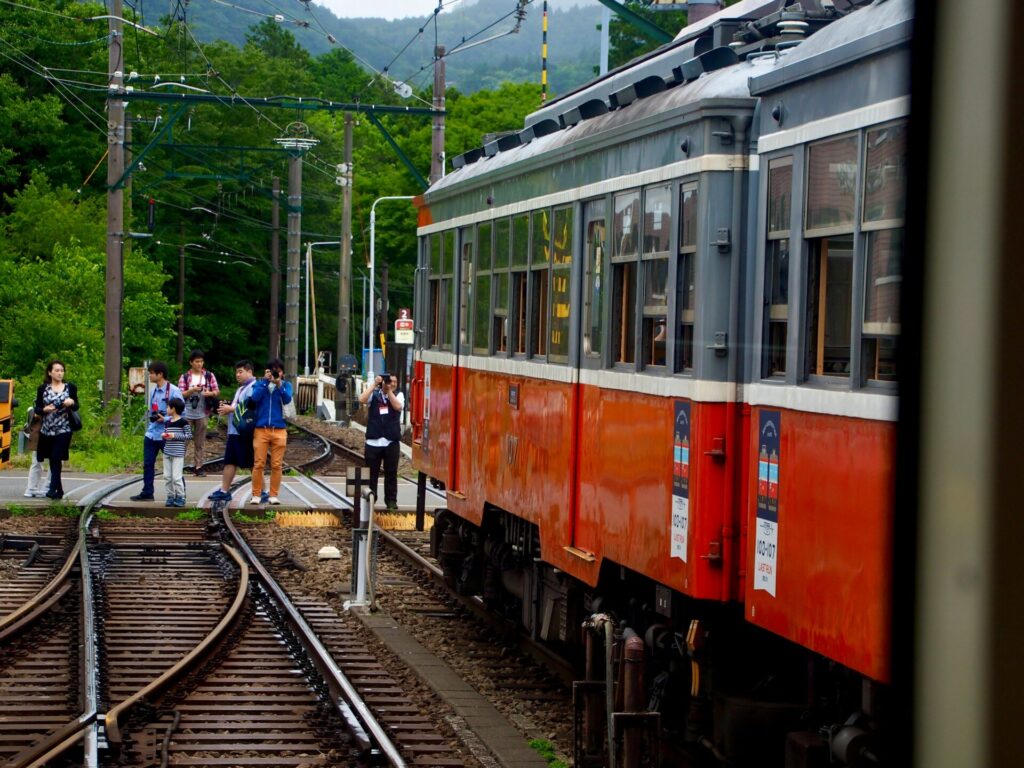
M 684 214 L 686 196 L 693 195 L 693 217 Z M 675 303 L 673 315 L 673 372 L 692 376 L 696 368 L 696 316 L 697 316 L 697 245 L 700 241 L 700 180 L 693 176 L 678 183 L 679 211 L 676 241 Z M 692 225 L 692 232 L 690 229 Z M 689 275 L 690 290 L 685 290 Z M 692 296 L 692 306 L 683 297 Z M 685 313 L 685 314 L 684 314 Z M 689 365 L 687 365 L 687 362 Z

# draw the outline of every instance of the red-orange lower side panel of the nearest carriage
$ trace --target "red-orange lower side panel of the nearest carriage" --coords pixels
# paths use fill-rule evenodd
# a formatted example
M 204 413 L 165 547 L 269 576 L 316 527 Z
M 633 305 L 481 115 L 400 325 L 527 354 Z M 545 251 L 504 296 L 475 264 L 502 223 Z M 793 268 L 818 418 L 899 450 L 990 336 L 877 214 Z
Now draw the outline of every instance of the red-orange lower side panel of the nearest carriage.
M 748 433 L 752 573 L 759 411 Z M 888 682 L 896 425 L 781 411 L 779 433 L 775 595 L 745 580 L 746 618 Z

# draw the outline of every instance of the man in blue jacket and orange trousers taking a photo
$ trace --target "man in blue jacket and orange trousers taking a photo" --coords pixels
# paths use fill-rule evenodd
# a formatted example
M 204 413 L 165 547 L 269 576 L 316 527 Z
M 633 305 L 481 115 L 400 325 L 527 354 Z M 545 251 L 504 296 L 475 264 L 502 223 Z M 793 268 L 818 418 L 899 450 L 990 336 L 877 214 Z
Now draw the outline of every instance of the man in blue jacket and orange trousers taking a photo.
M 266 364 L 263 378 L 253 384 L 250 401 L 256 407 L 256 429 L 253 432 L 253 498 L 250 504 L 281 504 L 281 475 L 288 444 L 288 423 L 285 406 L 292 401 L 292 385 L 285 381 L 285 365 L 274 357 Z M 270 496 L 262 499 L 263 467 L 270 451 Z

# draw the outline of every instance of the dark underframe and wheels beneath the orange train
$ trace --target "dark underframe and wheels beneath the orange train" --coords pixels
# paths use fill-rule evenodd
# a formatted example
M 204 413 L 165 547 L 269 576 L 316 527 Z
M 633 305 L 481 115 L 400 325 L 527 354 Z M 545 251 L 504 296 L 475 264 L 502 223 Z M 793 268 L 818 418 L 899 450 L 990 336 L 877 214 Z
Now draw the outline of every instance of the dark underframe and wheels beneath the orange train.
M 440 510 L 431 532 L 452 587 L 579 670 L 578 768 L 885 764 L 887 686 L 744 622 L 741 603 L 694 600 L 608 561 L 584 585 L 546 563 L 540 542 L 537 525 L 489 505 L 479 526 Z

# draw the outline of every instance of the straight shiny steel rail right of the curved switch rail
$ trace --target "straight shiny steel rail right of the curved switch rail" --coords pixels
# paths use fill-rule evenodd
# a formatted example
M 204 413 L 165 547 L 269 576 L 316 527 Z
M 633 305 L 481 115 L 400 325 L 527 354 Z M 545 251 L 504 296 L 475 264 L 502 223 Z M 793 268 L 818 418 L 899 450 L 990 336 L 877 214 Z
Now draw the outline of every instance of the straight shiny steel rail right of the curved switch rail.
M 345 676 L 345 673 L 338 667 L 331 652 L 321 642 L 316 633 L 306 623 L 299 609 L 295 607 L 288 595 L 285 594 L 285 591 L 273 577 L 270 575 L 270 572 L 264 567 L 263 563 L 260 562 L 245 537 L 234 527 L 230 511 L 224 508 L 221 510 L 221 515 L 225 527 L 234 539 L 239 549 L 249 558 L 253 570 L 262 583 L 263 588 L 284 609 L 289 623 L 295 629 L 296 634 L 316 665 L 317 670 L 331 687 L 332 693 L 335 696 L 334 705 L 360 749 L 369 750 L 376 746 L 387 758 L 393 768 L 406 768 L 406 761 L 399 754 L 398 748 L 391 741 L 383 726 L 377 722 L 370 708 L 359 696 L 355 686 L 352 685 Z

